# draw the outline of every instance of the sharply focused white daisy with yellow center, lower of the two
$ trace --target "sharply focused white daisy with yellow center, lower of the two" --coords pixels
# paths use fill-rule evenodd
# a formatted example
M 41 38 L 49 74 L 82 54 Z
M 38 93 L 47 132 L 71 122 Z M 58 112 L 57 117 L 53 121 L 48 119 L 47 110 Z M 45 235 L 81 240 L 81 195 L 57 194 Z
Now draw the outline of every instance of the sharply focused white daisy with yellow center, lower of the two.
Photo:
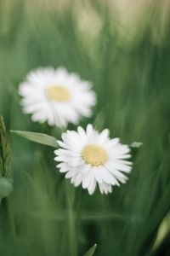
M 94 193 L 96 184 L 103 194 L 111 193 L 112 186 L 126 183 L 124 173 L 130 172 L 132 162 L 127 145 L 122 145 L 119 138 L 109 138 L 109 130 L 101 133 L 88 125 L 86 131 L 78 127 L 77 131 L 66 131 L 63 141 L 58 141 L 59 149 L 54 153 L 54 160 L 59 172 L 65 172 L 65 177 L 71 178 L 76 187 L 82 183 L 83 189 Z

